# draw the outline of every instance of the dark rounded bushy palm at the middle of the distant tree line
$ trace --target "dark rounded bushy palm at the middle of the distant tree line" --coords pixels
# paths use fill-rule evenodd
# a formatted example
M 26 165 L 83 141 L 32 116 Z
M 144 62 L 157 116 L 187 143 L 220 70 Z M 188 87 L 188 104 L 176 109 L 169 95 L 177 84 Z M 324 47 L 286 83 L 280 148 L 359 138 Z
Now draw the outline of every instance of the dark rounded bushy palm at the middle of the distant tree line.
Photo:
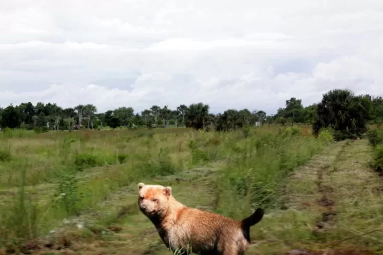
M 185 111 L 186 127 L 203 129 L 209 120 L 209 105 L 203 103 L 191 104 Z

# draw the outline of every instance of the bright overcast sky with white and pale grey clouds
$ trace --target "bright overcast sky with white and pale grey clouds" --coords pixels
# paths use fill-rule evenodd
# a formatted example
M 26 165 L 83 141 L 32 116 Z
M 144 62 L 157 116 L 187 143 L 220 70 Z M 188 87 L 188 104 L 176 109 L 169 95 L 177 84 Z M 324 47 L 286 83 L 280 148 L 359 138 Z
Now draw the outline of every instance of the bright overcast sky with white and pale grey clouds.
M 383 96 L 382 0 L 0 0 L 0 105 L 212 112 Z

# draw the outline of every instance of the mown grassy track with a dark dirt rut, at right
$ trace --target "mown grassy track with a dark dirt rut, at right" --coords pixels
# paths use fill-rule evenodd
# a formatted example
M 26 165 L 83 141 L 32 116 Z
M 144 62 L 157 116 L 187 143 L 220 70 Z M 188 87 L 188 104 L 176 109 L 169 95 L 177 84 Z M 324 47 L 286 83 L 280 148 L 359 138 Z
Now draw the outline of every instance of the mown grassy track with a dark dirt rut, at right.
M 289 247 L 383 254 L 383 179 L 368 168 L 370 160 L 366 140 L 343 141 L 294 172 L 288 213 L 299 212 L 305 227 L 296 231 L 307 237 Z

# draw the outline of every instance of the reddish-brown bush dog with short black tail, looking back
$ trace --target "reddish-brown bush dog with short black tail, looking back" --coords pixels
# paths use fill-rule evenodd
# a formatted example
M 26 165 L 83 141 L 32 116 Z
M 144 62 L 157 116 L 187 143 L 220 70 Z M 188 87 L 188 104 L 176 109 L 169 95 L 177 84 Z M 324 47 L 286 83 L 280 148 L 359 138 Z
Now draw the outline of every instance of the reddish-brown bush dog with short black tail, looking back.
M 140 210 L 155 225 L 162 241 L 181 254 L 243 255 L 250 243 L 250 227 L 263 217 L 258 209 L 242 221 L 189 208 L 172 196 L 171 187 L 138 184 Z

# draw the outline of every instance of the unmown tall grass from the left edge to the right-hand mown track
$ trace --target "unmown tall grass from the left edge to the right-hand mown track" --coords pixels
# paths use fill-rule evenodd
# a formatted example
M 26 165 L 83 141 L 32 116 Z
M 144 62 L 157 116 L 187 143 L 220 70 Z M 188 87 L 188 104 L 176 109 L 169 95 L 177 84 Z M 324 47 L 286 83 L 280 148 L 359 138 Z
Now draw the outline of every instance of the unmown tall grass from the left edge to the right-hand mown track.
M 242 216 L 256 206 L 278 206 L 284 178 L 328 141 L 305 126 L 229 133 L 6 130 L 0 136 L 0 246 L 46 234 L 122 187 L 212 162 L 223 164 L 210 179 L 217 212 Z

